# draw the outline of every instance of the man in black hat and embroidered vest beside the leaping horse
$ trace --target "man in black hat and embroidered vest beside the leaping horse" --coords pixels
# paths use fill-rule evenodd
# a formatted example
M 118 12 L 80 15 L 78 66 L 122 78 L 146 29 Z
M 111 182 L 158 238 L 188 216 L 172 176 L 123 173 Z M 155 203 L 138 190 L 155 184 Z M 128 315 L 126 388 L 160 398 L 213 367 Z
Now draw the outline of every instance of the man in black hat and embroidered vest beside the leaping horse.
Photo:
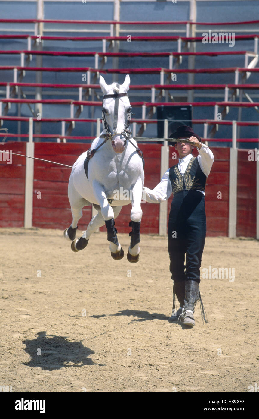
M 168 252 L 174 281 L 173 313 L 169 320 L 181 318 L 185 325 L 195 326 L 193 313 L 200 298 L 200 265 L 206 237 L 205 184 L 214 156 L 191 127 L 178 127 L 170 138 L 188 138 L 193 145 L 184 141 L 173 143 L 180 157 L 178 165 L 169 168 L 154 189 L 144 187 L 144 199 L 160 203 L 173 193 L 168 221 Z M 192 156 L 194 147 L 199 151 L 197 158 Z M 177 312 L 175 295 L 180 303 Z

